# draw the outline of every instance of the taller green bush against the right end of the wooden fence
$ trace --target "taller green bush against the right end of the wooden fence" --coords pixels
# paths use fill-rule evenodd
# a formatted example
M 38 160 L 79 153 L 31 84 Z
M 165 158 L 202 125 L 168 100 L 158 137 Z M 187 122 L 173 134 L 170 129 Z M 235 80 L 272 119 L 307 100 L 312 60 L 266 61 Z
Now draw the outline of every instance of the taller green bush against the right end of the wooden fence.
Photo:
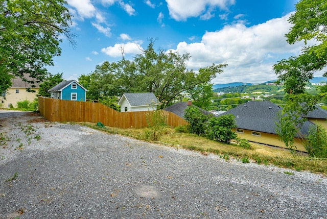
M 185 109 L 184 118 L 189 122 L 189 130 L 191 133 L 198 135 L 204 134 L 209 117 L 204 115 L 199 108 L 189 106 Z

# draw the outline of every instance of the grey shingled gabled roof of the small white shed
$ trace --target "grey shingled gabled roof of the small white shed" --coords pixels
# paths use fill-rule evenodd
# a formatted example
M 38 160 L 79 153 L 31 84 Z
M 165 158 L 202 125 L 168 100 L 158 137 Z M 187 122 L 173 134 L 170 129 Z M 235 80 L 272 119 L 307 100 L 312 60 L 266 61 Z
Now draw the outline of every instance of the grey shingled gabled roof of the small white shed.
M 123 95 L 118 101 L 118 105 L 120 105 L 120 102 L 123 100 L 124 97 L 131 106 L 147 106 L 153 104 L 160 104 L 160 102 L 153 93 L 123 93 Z

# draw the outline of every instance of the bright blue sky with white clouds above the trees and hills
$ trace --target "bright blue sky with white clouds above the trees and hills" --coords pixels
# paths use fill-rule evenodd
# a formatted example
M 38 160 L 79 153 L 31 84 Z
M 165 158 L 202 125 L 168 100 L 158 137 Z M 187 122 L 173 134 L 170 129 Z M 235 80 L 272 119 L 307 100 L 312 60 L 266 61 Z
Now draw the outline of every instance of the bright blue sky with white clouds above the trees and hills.
M 61 56 L 48 66 L 65 80 L 91 74 L 104 61 L 133 60 L 155 39 L 155 50 L 189 53 L 197 71 L 227 63 L 211 82 L 263 83 L 277 79 L 272 66 L 300 54 L 302 42 L 285 34 L 296 0 L 67 0 L 76 45 L 62 38 Z

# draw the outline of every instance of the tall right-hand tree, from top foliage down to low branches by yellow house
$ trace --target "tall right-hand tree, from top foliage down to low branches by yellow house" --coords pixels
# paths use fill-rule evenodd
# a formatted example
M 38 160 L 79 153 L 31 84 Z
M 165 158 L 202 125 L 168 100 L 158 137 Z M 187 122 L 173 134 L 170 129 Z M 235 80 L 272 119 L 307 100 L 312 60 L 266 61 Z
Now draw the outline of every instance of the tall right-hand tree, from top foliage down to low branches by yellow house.
M 305 46 L 297 57 L 283 59 L 273 66 L 278 76 L 277 84 L 284 83 L 287 104 L 278 115 L 276 133 L 289 149 L 294 148 L 294 136 L 306 121 L 308 112 L 315 109 L 319 96 L 305 92 L 305 86 L 314 72 L 327 65 L 327 2 L 325 0 L 300 0 L 289 22 L 293 27 L 286 34 L 294 44 L 303 41 Z M 312 40 L 316 44 L 308 45 Z M 324 73 L 327 76 L 327 72 Z

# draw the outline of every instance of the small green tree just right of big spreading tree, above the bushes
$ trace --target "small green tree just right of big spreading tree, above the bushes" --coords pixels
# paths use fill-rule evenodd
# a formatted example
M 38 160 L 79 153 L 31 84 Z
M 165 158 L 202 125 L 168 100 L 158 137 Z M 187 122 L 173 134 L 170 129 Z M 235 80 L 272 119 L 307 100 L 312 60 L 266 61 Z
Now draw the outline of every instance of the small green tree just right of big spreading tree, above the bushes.
M 203 83 L 197 87 L 188 90 L 194 100 L 193 104 L 197 107 L 207 110 L 211 105 L 211 100 L 214 97 L 213 84 Z

